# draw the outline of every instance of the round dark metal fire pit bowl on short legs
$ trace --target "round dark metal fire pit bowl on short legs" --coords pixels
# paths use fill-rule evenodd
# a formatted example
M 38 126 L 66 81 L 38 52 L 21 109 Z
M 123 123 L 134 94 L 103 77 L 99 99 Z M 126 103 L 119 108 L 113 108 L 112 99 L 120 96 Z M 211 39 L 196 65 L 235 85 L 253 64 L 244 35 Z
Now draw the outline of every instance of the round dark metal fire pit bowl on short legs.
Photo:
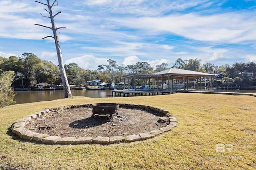
M 119 104 L 116 104 L 116 103 L 92 104 L 92 117 L 94 117 L 95 114 L 110 115 L 110 117 L 112 117 L 112 114 L 114 113 L 118 114 L 118 111 L 119 111 Z

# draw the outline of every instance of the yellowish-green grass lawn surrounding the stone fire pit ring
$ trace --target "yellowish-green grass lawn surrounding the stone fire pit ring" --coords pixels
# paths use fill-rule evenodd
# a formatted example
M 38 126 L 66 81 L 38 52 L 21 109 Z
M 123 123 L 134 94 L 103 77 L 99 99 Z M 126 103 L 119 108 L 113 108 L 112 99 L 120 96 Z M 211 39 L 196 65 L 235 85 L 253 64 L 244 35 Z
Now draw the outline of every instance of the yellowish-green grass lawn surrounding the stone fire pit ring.
M 9 131 L 17 119 L 46 107 L 98 102 L 161 107 L 169 110 L 178 124 L 146 141 L 112 145 L 42 145 L 19 140 Z M 255 97 L 183 93 L 74 97 L 8 106 L 0 109 L 0 170 L 2 165 L 26 170 L 256 169 L 255 112 Z M 230 145 L 220 145 L 218 151 L 224 152 L 218 153 L 216 144 Z

